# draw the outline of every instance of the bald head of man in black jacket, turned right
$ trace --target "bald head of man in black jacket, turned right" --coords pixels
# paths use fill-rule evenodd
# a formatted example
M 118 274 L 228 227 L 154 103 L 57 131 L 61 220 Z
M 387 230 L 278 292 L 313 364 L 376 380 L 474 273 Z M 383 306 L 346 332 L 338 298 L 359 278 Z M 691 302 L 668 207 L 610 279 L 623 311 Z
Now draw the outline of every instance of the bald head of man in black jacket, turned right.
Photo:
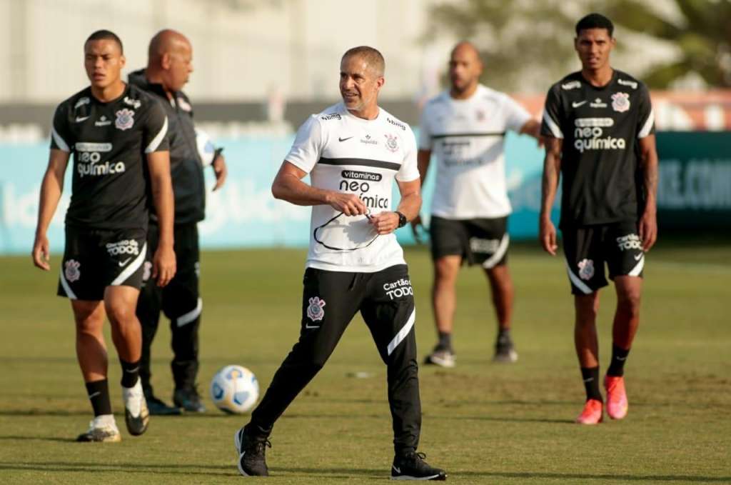
M 180 91 L 193 72 L 193 48 L 187 37 L 178 31 L 164 29 L 150 41 L 147 78 L 160 83 L 166 91 Z

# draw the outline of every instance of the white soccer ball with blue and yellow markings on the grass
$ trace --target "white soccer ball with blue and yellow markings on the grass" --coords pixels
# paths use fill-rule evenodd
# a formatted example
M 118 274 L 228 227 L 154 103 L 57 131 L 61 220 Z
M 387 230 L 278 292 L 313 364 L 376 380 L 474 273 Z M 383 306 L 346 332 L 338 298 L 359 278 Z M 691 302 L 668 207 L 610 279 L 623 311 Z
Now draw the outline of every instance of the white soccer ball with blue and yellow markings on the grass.
M 211 380 L 211 399 L 224 413 L 246 413 L 259 399 L 257 376 L 243 366 L 225 366 Z

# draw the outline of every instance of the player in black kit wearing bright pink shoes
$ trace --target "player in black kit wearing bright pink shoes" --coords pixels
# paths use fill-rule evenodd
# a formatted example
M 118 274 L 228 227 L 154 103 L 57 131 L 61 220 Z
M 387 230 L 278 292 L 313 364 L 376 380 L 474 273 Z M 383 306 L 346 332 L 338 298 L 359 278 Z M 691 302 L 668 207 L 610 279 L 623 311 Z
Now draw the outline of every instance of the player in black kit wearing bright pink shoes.
M 624 362 L 640 323 L 645 252 L 657 236 L 657 152 L 650 95 L 643 83 L 613 69 L 611 20 L 596 13 L 576 25 L 582 64 L 551 86 L 543 113 L 546 140 L 540 241 L 556 255 L 550 210 L 563 176 L 561 235 L 575 302 L 575 345 L 586 387 L 580 424 L 602 421 L 596 313 L 607 285 L 605 263 L 617 293 L 612 360 L 604 385 L 607 414 L 627 413 Z

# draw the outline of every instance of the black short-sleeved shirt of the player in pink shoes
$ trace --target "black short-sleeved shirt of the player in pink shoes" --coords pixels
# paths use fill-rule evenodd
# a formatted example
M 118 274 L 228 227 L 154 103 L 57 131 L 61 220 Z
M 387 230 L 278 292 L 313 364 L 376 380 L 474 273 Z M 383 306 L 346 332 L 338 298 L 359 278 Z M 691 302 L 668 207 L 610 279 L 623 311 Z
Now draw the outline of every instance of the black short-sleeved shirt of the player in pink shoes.
M 560 227 L 637 221 L 637 140 L 655 132 L 648 89 L 615 70 L 606 86 L 574 72 L 551 86 L 541 134 L 563 140 Z

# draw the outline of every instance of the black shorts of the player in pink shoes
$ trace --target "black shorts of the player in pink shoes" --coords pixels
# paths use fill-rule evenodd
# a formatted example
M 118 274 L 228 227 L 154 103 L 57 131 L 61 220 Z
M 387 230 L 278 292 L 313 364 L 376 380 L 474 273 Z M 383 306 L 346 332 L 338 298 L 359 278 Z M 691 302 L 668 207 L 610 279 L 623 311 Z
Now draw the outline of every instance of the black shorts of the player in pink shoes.
M 607 286 L 605 263 L 610 279 L 643 275 L 645 252 L 634 222 L 563 228 L 561 236 L 574 295 L 588 295 Z

